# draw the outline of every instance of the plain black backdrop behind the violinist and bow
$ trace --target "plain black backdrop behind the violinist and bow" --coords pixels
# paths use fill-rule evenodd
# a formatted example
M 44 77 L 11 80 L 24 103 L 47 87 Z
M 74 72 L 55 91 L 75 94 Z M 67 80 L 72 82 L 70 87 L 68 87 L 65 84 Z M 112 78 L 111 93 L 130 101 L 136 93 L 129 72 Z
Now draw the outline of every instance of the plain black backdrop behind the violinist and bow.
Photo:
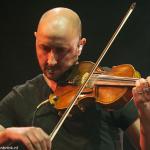
M 41 71 L 35 54 L 34 31 L 41 15 L 58 6 L 76 11 L 87 45 L 80 60 L 96 61 L 125 15 L 132 0 L 16 0 L 0 4 L 0 98 L 12 86 Z M 143 77 L 150 75 L 150 2 L 136 0 L 136 9 L 115 39 L 101 66 L 132 64 Z

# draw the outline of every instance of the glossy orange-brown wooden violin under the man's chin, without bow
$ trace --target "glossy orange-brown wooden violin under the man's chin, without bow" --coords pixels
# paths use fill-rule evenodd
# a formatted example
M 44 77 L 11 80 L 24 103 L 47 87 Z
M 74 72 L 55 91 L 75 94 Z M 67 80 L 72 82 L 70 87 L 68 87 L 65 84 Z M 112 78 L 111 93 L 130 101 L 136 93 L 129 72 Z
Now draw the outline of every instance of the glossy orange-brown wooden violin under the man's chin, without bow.
M 49 101 L 57 110 L 68 108 L 77 94 L 80 86 L 85 82 L 94 63 L 83 61 L 73 68 L 65 85 L 57 87 Z M 84 90 L 78 97 L 75 107 L 85 111 L 91 101 L 99 103 L 107 110 L 116 110 L 124 106 L 132 98 L 132 87 L 140 74 L 130 64 L 113 66 L 104 70 L 98 67 Z

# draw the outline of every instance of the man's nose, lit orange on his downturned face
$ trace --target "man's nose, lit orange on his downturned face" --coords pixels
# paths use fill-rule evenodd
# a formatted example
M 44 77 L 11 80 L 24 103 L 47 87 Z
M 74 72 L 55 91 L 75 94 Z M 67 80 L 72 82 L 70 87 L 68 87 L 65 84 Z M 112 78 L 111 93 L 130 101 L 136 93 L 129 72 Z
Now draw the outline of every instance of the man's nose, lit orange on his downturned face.
M 49 66 L 54 66 L 57 64 L 57 58 L 54 50 L 50 50 L 50 52 L 48 53 L 47 63 Z

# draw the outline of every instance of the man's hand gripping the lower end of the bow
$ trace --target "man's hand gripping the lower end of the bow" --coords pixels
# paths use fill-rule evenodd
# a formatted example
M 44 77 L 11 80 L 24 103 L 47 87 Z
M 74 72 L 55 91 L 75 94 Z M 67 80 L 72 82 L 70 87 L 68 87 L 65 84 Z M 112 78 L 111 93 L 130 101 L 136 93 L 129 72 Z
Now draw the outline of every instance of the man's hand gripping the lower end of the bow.
M 10 127 L 3 130 L 5 141 L 20 141 L 28 150 L 50 150 L 49 136 L 36 127 Z M 4 140 L 4 139 L 3 139 Z

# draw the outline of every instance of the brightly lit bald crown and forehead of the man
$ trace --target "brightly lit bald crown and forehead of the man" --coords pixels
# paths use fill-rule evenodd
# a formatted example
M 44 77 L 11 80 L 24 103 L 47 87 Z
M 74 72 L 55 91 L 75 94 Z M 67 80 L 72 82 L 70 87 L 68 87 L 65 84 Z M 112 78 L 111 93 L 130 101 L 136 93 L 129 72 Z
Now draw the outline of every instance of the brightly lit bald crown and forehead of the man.
M 48 10 L 42 15 L 37 31 L 47 34 L 49 31 L 53 31 L 56 36 L 70 33 L 81 37 L 81 21 L 71 9 L 58 7 Z

